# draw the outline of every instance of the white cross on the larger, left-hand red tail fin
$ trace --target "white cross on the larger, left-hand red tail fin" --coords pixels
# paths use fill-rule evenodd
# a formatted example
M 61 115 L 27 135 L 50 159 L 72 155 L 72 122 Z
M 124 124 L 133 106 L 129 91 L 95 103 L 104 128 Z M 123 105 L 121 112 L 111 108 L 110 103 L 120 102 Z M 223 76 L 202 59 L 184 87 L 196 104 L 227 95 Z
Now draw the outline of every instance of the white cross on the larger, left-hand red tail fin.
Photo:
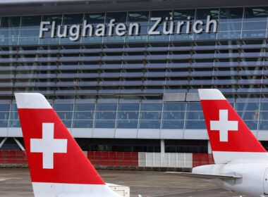
M 67 139 L 54 139 L 54 123 L 42 123 L 42 139 L 30 139 L 30 152 L 43 154 L 43 169 L 54 168 L 54 153 L 67 153 Z

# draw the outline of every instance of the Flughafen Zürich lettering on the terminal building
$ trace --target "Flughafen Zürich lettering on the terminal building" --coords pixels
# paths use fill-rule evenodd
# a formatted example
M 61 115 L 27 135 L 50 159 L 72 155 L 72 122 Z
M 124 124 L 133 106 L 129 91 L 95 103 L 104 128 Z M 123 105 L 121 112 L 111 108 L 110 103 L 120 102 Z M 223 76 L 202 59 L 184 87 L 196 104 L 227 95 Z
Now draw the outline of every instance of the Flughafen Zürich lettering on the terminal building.
M 193 29 L 193 32 L 200 34 L 202 32 L 217 32 L 218 23 L 217 20 L 212 20 L 210 15 L 207 15 L 207 21 L 195 20 L 191 23 L 191 18 L 188 16 L 187 21 L 178 21 L 174 22 L 173 18 L 166 17 L 165 20 L 161 17 L 150 18 L 152 26 L 148 29 L 147 34 L 149 35 L 159 35 L 159 34 L 181 34 L 181 29 L 185 25 L 186 34 L 190 34 L 190 30 Z M 158 30 L 159 25 L 163 23 L 162 32 Z M 49 28 L 51 27 L 51 28 Z M 87 23 L 87 20 L 83 21 L 83 25 L 57 25 L 53 21 L 42 21 L 40 24 L 39 38 L 42 38 L 44 32 L 50 32 L 50 37 L 69 37 L 70 40 L 76 41 L 79 39 L 79 35 L 82 37 L 104 37 L 105 35 L 112 36 L 124 36 L 128 35 L 139 35 L 140 34 L 140 24 L 139 23 L 118 23 L 116 24 L 115 19 L 111 19 L 107 25 L 104 23 L 99 23 L 96 26 Z M 106 33 L 107 32 L 107 33 Z

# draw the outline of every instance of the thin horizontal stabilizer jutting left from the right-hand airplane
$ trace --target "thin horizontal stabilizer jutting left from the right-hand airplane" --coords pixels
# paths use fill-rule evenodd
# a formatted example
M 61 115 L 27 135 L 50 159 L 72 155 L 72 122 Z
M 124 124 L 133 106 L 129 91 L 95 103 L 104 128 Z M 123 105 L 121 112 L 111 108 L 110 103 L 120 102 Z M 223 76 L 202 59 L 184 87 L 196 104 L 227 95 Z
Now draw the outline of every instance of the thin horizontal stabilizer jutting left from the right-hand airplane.
M 201 174 L 190 172 L 165 172 L 166 174 L 175 174 L 185 177 L 193 177 L 198 179 L 241 179 L 240 176 L 228 175 L 228 174 Z

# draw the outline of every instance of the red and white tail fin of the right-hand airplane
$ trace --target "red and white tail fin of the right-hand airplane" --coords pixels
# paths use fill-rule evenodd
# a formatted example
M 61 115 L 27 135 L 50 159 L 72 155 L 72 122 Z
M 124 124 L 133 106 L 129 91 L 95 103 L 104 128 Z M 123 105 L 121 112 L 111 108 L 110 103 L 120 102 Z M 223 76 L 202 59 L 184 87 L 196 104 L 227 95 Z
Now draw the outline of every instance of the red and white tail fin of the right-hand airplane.
M 217 89 L 198 91 L 215 162 L 268 162 L 267 152 L 224 95 Z

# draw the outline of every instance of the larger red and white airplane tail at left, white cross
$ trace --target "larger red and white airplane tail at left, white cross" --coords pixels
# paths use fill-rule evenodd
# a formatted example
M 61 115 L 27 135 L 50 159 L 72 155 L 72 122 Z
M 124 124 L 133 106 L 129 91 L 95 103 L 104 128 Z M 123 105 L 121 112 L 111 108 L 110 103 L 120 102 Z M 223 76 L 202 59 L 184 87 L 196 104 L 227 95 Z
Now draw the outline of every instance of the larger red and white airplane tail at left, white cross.
M 15 94 L 35 197 L 119 197 L 42 94 Z

